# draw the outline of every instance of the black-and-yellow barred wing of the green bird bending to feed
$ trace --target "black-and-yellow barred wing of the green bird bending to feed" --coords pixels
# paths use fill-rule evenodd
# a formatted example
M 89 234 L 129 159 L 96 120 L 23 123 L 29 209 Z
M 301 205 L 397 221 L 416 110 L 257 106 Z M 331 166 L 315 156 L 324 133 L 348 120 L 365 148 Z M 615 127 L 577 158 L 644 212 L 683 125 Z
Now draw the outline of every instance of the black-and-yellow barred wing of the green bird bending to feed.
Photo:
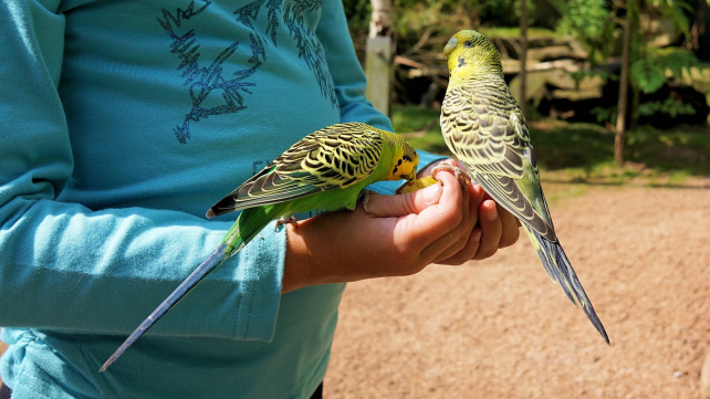
M 376 128 L 337 124 L 314 132 L 208 211 L 215 217 L 355 185 L 375 170 L 383 150 Z

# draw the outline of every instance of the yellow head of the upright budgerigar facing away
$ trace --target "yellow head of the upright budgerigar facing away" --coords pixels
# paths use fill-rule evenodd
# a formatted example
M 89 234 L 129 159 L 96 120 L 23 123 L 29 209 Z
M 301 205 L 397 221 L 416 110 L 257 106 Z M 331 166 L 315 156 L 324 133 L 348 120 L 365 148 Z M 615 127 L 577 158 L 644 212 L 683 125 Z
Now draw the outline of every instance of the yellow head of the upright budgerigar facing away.
M 503 73 L 498 50 L 488 38 L 474 30 L 460 31 L 451 36 L 443 46 L 443 56 L 448 60 L 449 76 L 452 78 Z

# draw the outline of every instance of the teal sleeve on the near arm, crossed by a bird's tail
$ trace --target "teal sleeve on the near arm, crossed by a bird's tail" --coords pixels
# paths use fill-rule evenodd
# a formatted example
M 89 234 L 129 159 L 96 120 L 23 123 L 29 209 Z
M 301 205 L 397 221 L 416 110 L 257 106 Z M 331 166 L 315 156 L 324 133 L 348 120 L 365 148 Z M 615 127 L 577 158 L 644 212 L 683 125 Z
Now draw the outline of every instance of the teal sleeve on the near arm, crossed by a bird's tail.
M 0 326 L 125 335 L 231 222 L 58 200 L 74 162 L 58 94 L 65 19 L 56 3 L 0 2 Z M 254 241 L 150 333 L 270 340 L 282 267 L 259 265 L 283 264 L 285 239 L 271 228 Z

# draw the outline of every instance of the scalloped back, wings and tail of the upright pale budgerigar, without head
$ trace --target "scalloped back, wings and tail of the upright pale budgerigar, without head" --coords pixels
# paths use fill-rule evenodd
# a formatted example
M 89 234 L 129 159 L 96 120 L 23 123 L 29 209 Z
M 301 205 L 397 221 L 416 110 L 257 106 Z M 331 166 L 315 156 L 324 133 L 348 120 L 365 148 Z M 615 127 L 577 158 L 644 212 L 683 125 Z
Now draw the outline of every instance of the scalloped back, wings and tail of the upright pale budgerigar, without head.
M 608 343 L 604 326 L 554 233 L 520 107 L 507 88 L 500 96 L 477 94 L 485 88 L 485 83 L 449 88 L 441 108 L 445 139 L 485 192 L 520 219 L 550 279 L 560 283 L 573 304 L 582 305 Z

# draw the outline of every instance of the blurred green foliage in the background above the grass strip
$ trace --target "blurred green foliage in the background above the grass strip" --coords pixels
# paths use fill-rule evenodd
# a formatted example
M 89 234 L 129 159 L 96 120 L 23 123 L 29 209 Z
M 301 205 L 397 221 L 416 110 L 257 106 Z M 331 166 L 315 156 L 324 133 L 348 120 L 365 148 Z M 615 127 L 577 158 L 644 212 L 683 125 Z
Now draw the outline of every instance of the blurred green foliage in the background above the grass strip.
M 520 1 L 504 0 L 393 0 L 394 27 L 397 53 L 403 54 L 420 45 L 422 36 L 431 34 L 443 43 L 450 34 L 464 28 L 474 28 L 490 38 L 504 38 L 513 42 L 519 36 Z M 610 0 L 525 0 L 529 8 L 529 35 L 573 36 L 588 53 L 588 64 L 582 71 L 571 72 L 576 82 L 593 75 L 604 81 L 618 81 L 619 67 L 614 57 L 620 55 L 623 22 L 628 17 L 634 25 L 630 84 L 631 112 L 635 120 L 650 113 L 687 115 L 695 113 L 681 101 L 645 99 L 639 93 L 650 94 L 667 82 L 691 84 L 703 93 L 703 82 L 696 77 L 707 76 L 707 69 L 696 55 L 681 44 L 690 39 L 690 25 L 698 1 L 710 0 L 644 0 L 631 1 L 628 10 L 624 1 Z M 361 56 L 368 31 L 372 4 L 369 0 L 344 0 L 346 13 Z M 661 27 L 661 28 L 659 28 Z M 662 29 L 661 33 L 658 29 Z M 554 31 L 553 31 L 554 30 Z M 664 44 L 652 39 L 664 36 Z M 510 39 L 513 39 L 511 41 Z M 432 53 L 435 41 L 425 46 Z M 710 94 L 709 94 L 710 96 Z M 595 108 L 599 123 L 615 123 L 616 109 Z M 631 127 L 633 124 L 631 124 Z

